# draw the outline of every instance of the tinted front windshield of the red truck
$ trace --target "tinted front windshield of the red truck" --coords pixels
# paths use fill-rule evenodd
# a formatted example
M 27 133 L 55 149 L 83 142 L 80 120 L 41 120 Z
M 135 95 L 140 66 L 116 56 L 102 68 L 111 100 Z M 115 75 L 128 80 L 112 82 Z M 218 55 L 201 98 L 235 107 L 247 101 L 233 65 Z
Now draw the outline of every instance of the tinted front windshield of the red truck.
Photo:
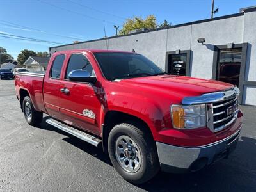
M 164 74 L 161 68 L 141 54 L 96 52 L 94 55 L 104 76 L 111 81 Z

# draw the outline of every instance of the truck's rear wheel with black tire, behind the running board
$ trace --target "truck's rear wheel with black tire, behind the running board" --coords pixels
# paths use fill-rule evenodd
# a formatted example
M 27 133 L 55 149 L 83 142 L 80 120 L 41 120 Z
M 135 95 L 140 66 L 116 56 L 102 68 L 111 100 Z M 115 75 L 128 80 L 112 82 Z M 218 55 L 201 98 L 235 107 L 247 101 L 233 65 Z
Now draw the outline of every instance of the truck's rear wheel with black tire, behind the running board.
M 28 122 L 29 125 L 40 125 L 43 119 L 43 113 L 35 110 L 30 97 L 24 97 L 24 100 L 22 102 L 22 109 L 26 122 Z

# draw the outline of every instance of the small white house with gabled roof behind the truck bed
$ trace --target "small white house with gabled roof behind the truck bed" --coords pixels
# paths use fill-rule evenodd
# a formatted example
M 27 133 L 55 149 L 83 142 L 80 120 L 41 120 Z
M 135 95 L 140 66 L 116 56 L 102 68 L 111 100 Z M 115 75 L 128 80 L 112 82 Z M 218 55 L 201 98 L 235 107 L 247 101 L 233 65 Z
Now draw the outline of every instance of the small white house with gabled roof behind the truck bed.
M 48 57 L 30 56 L 24 65 L 29 71 L 44 71 L 49 63 Z

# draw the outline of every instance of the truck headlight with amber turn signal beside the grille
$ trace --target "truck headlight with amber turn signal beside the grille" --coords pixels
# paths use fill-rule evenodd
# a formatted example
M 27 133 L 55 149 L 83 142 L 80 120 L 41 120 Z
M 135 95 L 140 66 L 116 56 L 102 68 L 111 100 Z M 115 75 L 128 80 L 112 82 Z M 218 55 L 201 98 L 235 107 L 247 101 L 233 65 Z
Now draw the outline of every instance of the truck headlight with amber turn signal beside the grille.
M 193 129 L 206 125 L 205 104 L 182 106 L 172 105 L 172 124 L 177 129 Z

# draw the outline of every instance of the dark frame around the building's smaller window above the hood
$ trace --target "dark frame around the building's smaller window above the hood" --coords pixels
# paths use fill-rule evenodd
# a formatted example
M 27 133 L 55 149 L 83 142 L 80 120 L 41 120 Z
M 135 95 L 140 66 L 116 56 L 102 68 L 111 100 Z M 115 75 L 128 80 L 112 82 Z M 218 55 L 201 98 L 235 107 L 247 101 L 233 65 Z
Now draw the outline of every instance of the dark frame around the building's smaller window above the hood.
M 178 51 L 178 52 L 177 52 Z M 186 54 L 186 74 L 185 76 L 191 76 L 191 50 L 177 50 L 177 51 L 167 51 L 166 52 L 166 58 L 165 58 L 165 72 L 168 73 L 168 71 L 170 70 L 170 65 L 169 65 L 169 56 L 172 55 L 177 55 L 177 54 Z

